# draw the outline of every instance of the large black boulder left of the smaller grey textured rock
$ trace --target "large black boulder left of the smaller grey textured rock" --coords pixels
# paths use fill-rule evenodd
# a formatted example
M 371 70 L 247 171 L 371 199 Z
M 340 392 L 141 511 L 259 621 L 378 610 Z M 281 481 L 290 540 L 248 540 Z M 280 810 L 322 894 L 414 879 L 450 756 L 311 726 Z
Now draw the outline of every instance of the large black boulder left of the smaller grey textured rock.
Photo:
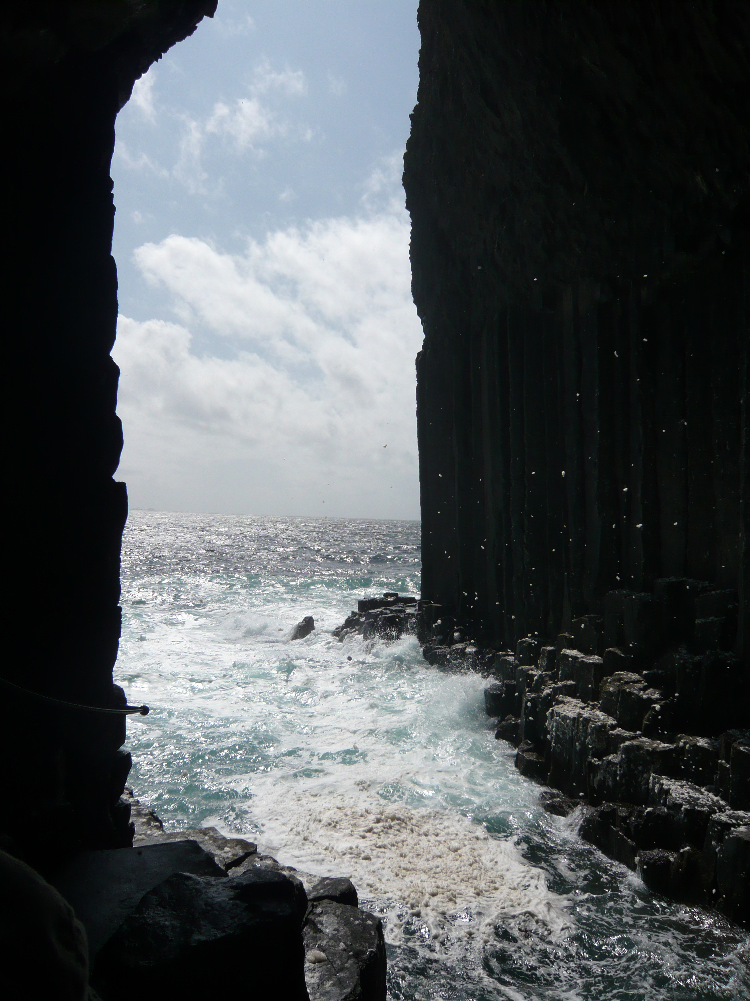
M 154 997 L 180 1001 L 302 1001 L 306 905 L 304 891 L 267 869 L 235 879 L 175 873 L 141 899 L 102 948 L 92 984 L 107 1001 L 131 998 L 139 982 Z

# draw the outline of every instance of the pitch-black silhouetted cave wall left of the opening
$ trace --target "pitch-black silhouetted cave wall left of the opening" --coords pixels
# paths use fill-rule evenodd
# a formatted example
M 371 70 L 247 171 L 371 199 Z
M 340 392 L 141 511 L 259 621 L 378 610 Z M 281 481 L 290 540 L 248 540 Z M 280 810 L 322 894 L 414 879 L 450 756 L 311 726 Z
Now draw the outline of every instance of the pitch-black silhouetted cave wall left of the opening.
M 5 656 L 1 847 L 43 871 L 80 847 L 129 844 L 119 804 L 125 484 L 111 255 L 115 118 L 135 80 L 216 0 L 8 5 L 0 17 L 6 258 Z

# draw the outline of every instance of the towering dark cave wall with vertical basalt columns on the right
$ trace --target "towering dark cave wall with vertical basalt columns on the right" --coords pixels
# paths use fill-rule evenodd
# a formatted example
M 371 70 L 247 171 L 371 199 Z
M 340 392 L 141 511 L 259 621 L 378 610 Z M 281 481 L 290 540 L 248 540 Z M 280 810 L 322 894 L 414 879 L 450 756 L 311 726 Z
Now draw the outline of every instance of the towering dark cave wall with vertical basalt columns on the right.
M 404 159 L 422 597 L 495 646 L 736 591 L 750 5 L 425 0 Z

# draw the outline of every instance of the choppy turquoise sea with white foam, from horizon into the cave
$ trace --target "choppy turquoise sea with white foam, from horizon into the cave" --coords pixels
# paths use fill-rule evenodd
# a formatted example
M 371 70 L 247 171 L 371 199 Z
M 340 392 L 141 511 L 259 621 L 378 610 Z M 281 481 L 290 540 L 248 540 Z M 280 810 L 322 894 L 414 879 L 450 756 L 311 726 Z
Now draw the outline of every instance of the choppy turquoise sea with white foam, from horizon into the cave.
M 419 524 L 131 512 L 116 681 L 136 796 L 350 876 L 392 999 L 750 998 L 750 943 L 545 814 L 474 674 L 331 630 L 420 587 Z M 290 642 L 303 616 L 315 632 Z

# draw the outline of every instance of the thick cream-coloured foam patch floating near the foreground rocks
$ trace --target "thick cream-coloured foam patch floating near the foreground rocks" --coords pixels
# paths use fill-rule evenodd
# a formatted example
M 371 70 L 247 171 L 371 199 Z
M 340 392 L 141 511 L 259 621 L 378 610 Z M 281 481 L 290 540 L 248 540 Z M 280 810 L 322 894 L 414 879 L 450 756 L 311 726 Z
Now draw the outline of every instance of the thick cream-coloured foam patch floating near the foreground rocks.
M 491 837 L 461 814 L 384 803 L 365 790 L 356 800 L 330 790 L 280 794 L 264 805 L 260 850 L 300 869 L 349 875 L 363 897 L 420 918 L 433 938 L 450 927 L 485 941 L 503 918 L 553 938 L 571 926 L 544 873 L 511 839 Z M 400 942 L 402 921 L 389 921 L 386 937 Z

